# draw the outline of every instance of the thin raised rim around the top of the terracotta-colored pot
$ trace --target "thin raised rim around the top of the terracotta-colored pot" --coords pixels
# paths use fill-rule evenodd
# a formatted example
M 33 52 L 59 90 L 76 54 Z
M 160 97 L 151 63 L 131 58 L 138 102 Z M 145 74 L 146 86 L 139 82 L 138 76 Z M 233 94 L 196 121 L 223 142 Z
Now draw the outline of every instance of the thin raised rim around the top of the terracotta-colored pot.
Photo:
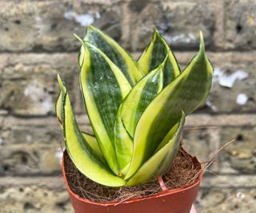
M 184 148 L 182 148 L 182 149 L 184 150 Z M 184 150 L 184 151 L 186 152 L 186 150 Z M 115 206 L 115 205 L 118 205 L 120 203 L 138 203 L 142 200 L 161 198 L 161 197 L 166 196 L 166 195 L 172 195 L 172 194 L 175 194 L 175 193 L 180 193 L 182 191 L 190 190 L 191 188 L 196 187 L 200 183 L 200 181 L 202 179 L 202 176 L 203 176 L 203 170 L 202 170 L 201 164 L 198 162 L 198 159 L 195 156 L 191 156 L 190 153 L 186 152 L 189 156 L 192 157 L 192 160 L 193 160 L 194 164 L 200 164 L 200 167 L 201 167 L 198 179 L 196 179 L 194 181 L 194 183 L 190 183 L 186 187 L 180 187 L 180 188 L 175 188 L 175 189 L 167 189 L 165 191 L 158 192 L 157 194 L 148 195 L 148 196 L 145 196 L 145 197 L 142 197 L 142 198 L 128 199 L 128 200 L 124 200 L 124 201 L 110 201 L 110 202 L 104 202 L 103 203 L 103 202 L 92 201 L 90 199 L 82 198 L 79 195 L 75 194 L 74 191 L 71 190 L 70 185 L 69 185 L 69 183 L 66 179 L 66 172 L 65 172 L 65 166 L 64 166 L 64 154 L 65 153 L 67 154 L 66 149 L 64 150 L 63 155 L 62 155 L 62 174 L 63 174 L 63 179 L 64 179 L 64 182 L 66 184 L 67 190 L 69 191 L 70 195 L 74 196 L 74 198 L 78 199 L 79 201 L 94 204 L 94 205 L 98 205 L 98 206 L 102 206 L 102 207 Z

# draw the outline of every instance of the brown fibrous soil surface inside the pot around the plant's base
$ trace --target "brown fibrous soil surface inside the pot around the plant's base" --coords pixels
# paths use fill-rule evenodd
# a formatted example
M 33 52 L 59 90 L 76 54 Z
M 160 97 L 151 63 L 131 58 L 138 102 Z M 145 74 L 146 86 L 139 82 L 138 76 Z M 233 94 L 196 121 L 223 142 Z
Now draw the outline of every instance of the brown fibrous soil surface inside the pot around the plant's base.
M 134 187 L 102 186 L 79 172 L 67 154 L 64 157 L 66 179 L 70 189 L 82 198 L 98 202 L 122 202 L 128 199 L 154 195 L 162 191 L 158 179 L 152 179 L 148 183 Z M 180 148 L 170 170 L 162 176 L 166 187 L 175 189 L 194 183 L 200 174 L 201 165 L 193 162 L 194 158 Z

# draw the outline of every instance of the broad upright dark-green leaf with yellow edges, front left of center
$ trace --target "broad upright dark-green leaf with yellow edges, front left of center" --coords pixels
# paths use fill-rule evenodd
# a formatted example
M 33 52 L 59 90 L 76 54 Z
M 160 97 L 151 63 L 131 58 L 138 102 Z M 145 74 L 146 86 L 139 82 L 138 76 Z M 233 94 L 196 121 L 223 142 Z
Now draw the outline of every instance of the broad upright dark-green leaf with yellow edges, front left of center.
M 81 41 L 81 40 L 80 40 Z M 90 124 L 98 145 L 112 171 L 118 174 L 114 150 L 114 122 L 130 84 L 105 53 L 88 42 L 80 73 L 80 85 Z

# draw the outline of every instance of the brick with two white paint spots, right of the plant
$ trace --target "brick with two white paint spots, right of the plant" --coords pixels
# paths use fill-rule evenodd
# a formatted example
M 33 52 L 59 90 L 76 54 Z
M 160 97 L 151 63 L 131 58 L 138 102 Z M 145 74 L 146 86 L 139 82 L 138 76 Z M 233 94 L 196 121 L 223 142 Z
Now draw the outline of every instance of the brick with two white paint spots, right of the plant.
M 208 105 L 211 111 L 215 112 L 255 112 L 256 91 L 256 74 L 254 70 L 256 64 L 250 65 L 243 63 L 215 64 L 215 77 Z M 233 78 L 237 77 L 236 80 Z M 241 78 L 239 78 L 241 77 Z M 234 81 L 234 84 L 231 82 Z M 229 85 L 227 87 L 226 85 Z M 241 101 L 241 96 L 245 97 Z

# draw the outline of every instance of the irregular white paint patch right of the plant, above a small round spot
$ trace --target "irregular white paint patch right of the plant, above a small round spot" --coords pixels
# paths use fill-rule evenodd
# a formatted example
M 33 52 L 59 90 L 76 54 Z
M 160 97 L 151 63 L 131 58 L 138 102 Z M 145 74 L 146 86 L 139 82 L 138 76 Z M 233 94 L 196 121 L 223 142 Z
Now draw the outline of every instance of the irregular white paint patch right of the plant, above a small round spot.
M 230 75 L 226 75 L 226 73 L 216 67 L 214 69 L 214 82 L 218 82 L 219 85 L 227 88 L 232 88 L 234 86 L 234 82 L 237 80 L 244 80 L 248 78 L 248 73 L 243 70 L 238 70 Z

